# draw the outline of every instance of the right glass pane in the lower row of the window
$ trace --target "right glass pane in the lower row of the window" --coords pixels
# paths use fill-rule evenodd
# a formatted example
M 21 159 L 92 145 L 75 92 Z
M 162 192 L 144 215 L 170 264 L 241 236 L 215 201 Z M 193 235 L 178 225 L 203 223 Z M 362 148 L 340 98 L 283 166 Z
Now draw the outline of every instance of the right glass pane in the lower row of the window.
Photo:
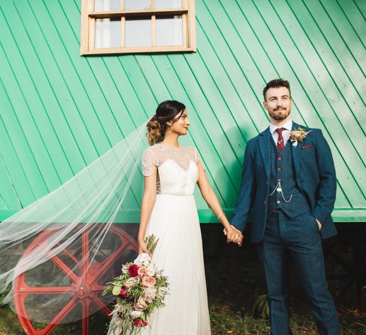
M 182 16 L 156 17 L 156 45 L 183 45 Z

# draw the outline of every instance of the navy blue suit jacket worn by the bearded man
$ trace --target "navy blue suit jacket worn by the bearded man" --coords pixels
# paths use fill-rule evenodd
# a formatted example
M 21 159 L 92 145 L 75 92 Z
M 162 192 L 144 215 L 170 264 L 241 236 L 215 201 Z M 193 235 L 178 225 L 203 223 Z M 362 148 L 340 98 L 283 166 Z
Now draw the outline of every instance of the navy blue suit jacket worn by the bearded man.
M 293 128 L 299 125 L 293 122 Z M 323 239 L 337 234 L 330 213 L 333 210 L 336 191 L 336 177 L 332 154 L 320 129 L 301 126 L 311 130 L 297 147 L 291 145 L 292 157 L 299 191 L 305 196 L 310 214 L 322 224 L 320 235 Z M 262 241 L 266 220 L 267 203 L 270 193 L 270 129 L 247 143 L 241 175 L 241 185 L 231 225 L 243 231 L 253 208 L 251 242 Z M 310 146 L 310 147 L 309 147 Z M 312 146 L 312 147 L 311 147 Z M 301 150 L 302 147 L 304 150 Z

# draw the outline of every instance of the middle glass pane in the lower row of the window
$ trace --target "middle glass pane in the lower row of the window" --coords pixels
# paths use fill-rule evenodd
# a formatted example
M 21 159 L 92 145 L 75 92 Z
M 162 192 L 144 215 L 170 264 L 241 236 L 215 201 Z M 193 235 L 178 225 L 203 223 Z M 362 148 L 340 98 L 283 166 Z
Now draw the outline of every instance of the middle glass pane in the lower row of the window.
M 151 17 L 126 18 L 126 46 L 151 46 Z

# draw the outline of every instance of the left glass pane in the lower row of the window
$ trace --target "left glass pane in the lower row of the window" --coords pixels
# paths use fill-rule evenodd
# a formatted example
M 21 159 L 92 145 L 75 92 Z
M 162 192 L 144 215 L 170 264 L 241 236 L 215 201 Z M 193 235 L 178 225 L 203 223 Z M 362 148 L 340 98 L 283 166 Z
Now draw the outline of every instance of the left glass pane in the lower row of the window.
M 120 18 L 95 20 L 95 48 L 120 47 Z

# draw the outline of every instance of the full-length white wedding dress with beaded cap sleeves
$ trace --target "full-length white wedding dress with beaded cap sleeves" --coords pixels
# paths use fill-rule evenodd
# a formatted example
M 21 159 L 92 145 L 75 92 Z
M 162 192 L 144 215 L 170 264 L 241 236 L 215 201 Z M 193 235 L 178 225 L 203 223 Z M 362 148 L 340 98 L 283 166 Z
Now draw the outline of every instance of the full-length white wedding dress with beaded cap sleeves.
M 143 173 L 158 168 L 157 198 L 146 236 L 159 238 L 153 263 L 169 277 L 166 306 L 150 317 L 142 335 L 208 335 L 202 239 L 193 192 L 198 180 L 198 152 L 192 147 L 154 145 L 143 155 Z

